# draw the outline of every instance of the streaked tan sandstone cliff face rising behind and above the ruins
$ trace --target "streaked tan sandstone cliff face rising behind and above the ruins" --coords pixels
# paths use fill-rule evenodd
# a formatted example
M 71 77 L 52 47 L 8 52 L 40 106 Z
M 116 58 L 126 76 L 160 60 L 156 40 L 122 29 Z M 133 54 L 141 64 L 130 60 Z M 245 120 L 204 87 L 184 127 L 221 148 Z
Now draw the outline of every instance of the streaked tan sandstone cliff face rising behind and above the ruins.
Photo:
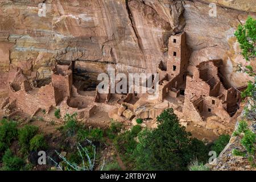
M 252 1 L 217 1 L 217 17 L 210 17 L 212 0 L 1 0 L 1 91 L 11 69 L 40 80 L 50 77 L 56 61 L 76 61 L 75 67 L 96 73 L 109 64 L 118 72 L 156 72 L 167 59 L 169 36 L 183 30 L 193 51 L 189 71 L 201 61 L 223 59 L 222 74 L 241 86 L 247 77 L 233 72 L 244 62 L 233 33 L 248 14 L 255 16 Z M 46 16 L 38 15 L 41 2 Z

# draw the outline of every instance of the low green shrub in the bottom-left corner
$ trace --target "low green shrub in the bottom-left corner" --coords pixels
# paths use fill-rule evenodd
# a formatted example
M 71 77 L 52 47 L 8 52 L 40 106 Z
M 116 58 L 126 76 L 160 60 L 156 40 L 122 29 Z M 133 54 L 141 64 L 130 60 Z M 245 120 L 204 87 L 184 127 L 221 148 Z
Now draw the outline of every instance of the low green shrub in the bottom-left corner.
M 24 160 L 14 156 L 10 149 L 7 149 L 3 155 L 3 171 L 19 171 L 24 165 Z

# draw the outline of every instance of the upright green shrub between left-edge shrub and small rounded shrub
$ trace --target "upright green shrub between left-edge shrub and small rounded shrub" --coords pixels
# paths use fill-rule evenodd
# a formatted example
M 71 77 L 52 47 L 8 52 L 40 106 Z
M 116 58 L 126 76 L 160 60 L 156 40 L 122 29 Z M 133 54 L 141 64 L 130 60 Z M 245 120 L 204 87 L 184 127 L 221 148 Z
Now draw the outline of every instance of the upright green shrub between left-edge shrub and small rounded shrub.
M 27 152 L 30 148 L 30 140 L 38 133 L 38 127 L 26 125 L 18 131 L 19 144 L 22 147 L 22 152 Z

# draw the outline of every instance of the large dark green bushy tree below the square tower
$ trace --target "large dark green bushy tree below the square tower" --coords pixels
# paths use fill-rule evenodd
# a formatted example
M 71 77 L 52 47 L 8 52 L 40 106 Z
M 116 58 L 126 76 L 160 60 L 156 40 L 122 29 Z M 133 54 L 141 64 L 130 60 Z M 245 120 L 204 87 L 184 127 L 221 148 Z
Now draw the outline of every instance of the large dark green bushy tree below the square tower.
M 207 147 L 191 138 L 173 109 L 166 109 L 157 118 L 158 128 L 139 133 L 136 155 L 140 170 L 186 170 L 193 158 L 206 160 Z M 202 157 L 203 156 L 203 157 Z

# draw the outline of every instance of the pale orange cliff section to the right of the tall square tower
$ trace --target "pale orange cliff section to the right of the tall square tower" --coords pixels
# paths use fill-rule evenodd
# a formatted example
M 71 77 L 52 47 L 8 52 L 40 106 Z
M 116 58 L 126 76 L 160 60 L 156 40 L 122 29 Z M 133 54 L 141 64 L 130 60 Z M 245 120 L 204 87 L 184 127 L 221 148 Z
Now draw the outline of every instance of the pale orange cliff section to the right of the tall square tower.
M 232 2 L 250 5 L 250 1 Z M 221 73 L 225 81 L 232 86 L 241 86 L 248 77 L 244 73 L 234 72 L 233 67 L 237 63 L 245 63 L 240 55 L 241 50 L 234 37 L 234 31 L 240 23 L 245 23 L 247 15 L 256 18 L 255 13 L 217 6 L 217 16 L 211 17 L 209 16 L 211 9 L 208 3 L 185 1 L 184 30 L 187 34 L 187 43 L 193 50 L 190 64 L 197 65 L 209 59 L 222 59 L 224 66 L 221 68 Z M 237 6 L 237 9 L 243 10 L 243 7 Z M 191 73 L 193 72 L 192 67 L 188 69 Z

